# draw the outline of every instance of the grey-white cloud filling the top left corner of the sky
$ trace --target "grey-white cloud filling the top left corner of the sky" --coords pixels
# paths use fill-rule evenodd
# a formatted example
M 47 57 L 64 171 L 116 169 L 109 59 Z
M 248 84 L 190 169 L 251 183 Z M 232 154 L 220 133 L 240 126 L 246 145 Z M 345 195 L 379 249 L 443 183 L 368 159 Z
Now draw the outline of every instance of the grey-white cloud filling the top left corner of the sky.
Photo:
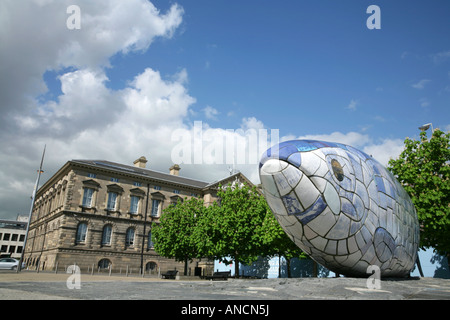
M 171 37 L 183 15 L 176 4 L 161 13 L 146 0 L 80 0 L 81 29 L 69 30 L 66 9 L 72 4 L 72 0 L 0 2 L 4 114 L 33 111 L 34 97 L 47 90 L 45 71 L 75 67 L 98 72 L 118 52 L 144 51 L 155 38 Z

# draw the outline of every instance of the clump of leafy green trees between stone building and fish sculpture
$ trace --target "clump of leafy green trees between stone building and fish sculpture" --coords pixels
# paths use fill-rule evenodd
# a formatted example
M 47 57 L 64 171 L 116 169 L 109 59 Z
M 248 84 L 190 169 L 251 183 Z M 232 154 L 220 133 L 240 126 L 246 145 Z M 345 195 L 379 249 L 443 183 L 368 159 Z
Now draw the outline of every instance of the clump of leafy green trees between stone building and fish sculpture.
M 255 186 L 219 187 L 219 201 L 205 207 L 192 198 L 164 209 L 152 234 L 162 256 L 187 261 L 217 259 L 235 265 L 251 264 L 259 256 L 303 257 L 282 230 L 263 195 Z

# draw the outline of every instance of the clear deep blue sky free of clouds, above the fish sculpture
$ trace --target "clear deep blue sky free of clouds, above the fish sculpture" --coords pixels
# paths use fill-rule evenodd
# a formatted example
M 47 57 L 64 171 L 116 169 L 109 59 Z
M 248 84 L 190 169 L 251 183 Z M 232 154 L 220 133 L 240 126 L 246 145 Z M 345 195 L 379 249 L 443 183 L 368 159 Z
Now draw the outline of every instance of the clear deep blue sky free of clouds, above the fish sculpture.
M 129 76 L 185 68 L 193 109 L 217 109 L 216 125 L 229 128 L 249 116 L 294 135 L 403 139 L 422 123 L 444 128 L 450 57 L 437 56 L 449 55 L 450 4 L 379 1 L 382 28 L 369 30 L 372 2 L 180 1 L 179 31 L 136 54 Z M 114 61 L 108 74 L 120 82 L 129 57 Z

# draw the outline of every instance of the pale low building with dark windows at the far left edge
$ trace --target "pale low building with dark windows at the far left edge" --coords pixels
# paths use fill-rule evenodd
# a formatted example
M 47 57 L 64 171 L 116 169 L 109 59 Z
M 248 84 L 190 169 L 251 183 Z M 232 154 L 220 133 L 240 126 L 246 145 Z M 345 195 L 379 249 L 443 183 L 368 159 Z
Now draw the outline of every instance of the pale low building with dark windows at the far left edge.
M 27 232 L 28 217 L 0 220 L 0 253 L 2 257 L 20 259 Z

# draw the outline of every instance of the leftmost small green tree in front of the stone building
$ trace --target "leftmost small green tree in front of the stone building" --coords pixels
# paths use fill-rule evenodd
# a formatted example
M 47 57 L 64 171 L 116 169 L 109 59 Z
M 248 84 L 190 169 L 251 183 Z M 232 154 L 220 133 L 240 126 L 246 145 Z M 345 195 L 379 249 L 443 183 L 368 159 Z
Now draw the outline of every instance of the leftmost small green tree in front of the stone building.
M 205 210 L 203 200 L 191 198 L 179 201 L 163 210 L 160 223 L 152 230 L 155 251 L 166 258 L 184 262 L 185 275 L 188 261 L 199 257 L 193 235 Z

